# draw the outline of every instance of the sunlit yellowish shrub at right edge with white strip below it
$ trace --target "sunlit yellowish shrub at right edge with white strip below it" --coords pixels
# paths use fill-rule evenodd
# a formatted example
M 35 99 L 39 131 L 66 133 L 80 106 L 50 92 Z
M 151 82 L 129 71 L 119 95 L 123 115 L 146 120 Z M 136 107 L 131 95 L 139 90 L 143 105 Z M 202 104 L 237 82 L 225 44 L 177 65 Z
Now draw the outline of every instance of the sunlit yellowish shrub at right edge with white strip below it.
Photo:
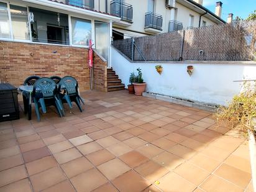
M 219 107 L 214 114 L 217 124 L 224 124 L 239 130 L 249 139 L 252 185 L 256 190 L 256 81 L 254 85 L 245 81 L 240 94 L 234 96 L 227 107 Z

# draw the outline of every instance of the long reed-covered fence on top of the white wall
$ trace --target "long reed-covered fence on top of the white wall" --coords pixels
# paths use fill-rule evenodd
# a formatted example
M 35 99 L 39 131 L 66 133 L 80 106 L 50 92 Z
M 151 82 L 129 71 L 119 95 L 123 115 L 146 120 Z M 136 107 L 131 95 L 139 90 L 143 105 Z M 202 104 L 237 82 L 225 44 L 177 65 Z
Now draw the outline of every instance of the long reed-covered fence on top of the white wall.
M 256 21 L 115 40 L 113 45 L 135 61 L 255 60 Z

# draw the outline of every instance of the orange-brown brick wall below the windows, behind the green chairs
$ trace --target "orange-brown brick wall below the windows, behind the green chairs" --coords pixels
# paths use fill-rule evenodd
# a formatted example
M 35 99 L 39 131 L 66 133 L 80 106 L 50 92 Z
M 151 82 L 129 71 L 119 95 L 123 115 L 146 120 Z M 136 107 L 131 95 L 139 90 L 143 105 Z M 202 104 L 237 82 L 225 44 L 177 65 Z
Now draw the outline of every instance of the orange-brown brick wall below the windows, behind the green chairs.
M 0 80 L 22 85 L 30 75 L 66 76 L 78 80 L 80 90 L 89 89 L 88 49 L 38 43 L 0 42 Z M 106 90 L 107 62 L 94 53 L 95 89 Z M 101 75 L 98 75 L 101 74 Z

